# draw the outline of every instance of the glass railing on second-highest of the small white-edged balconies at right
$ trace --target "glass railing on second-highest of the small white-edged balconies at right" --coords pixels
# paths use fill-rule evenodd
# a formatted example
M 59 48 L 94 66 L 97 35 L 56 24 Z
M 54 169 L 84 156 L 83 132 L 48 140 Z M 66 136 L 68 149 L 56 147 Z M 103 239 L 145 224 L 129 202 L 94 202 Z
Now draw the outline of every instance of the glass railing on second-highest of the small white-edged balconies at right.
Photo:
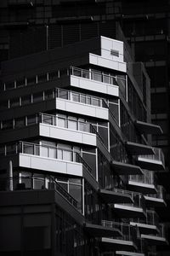
M 156 186 L 156 176 L 154 172 L 143 170 L 143 175 L 129 175 L 129 181 L 135 183 L 154 184 Z

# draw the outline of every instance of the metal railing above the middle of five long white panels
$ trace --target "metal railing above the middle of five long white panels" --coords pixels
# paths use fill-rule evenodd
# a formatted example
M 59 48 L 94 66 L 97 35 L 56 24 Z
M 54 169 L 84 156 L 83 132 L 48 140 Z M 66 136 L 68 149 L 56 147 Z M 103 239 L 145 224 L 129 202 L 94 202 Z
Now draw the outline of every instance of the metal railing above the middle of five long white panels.
M 82 94 L 73 90 L 55 88 L 55 97 L 65 99 L 71 102 L 80 102 L 95 107 L 105 108 L 102 98 L 91 96 L 88 94 Z

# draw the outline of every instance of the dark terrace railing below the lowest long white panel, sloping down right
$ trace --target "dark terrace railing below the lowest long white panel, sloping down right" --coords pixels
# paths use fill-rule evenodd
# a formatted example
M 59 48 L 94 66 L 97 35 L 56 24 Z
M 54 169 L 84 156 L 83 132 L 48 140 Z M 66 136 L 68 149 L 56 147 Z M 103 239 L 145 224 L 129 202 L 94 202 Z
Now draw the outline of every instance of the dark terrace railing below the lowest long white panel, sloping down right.
M 12 186 L 11 186 L 12 183 Z M 11 189 L 13 188 L 13 189 Z M 54 189 L 64 196 L 72 206 L 77 207 L 77 200 L 74 199 L 54 177 L 51 176 L 28 176 L 28 177 L 3 177 L 0 179 L 0 191 L 7 190 L 36 190 Z

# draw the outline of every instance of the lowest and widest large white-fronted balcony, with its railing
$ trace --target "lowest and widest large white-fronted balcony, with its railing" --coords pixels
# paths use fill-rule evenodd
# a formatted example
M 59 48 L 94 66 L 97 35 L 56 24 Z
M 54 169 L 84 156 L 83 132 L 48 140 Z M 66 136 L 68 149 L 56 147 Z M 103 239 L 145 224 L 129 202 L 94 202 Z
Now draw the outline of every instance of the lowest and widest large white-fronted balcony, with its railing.
M 84 177 L 94 189 L 99 189 L 94 170 L 77 151 L 20 142 L 5 145 L 1 148 L 0 155 L 0 169 L 4 169 L 4 166 L 8 166 L 8 161 L 12 160 L 14 168 Z

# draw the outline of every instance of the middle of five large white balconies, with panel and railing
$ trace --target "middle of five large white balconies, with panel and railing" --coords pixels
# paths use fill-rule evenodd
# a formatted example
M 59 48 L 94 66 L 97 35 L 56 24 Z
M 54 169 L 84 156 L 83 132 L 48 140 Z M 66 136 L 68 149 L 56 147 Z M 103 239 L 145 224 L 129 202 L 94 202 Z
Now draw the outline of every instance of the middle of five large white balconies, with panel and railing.
M 59 110 L 99 119 L 109 119 L 108 109 L 105 108 L 102 98 L 59 88 L 55 90 L 55 97 L 56 108 Z

